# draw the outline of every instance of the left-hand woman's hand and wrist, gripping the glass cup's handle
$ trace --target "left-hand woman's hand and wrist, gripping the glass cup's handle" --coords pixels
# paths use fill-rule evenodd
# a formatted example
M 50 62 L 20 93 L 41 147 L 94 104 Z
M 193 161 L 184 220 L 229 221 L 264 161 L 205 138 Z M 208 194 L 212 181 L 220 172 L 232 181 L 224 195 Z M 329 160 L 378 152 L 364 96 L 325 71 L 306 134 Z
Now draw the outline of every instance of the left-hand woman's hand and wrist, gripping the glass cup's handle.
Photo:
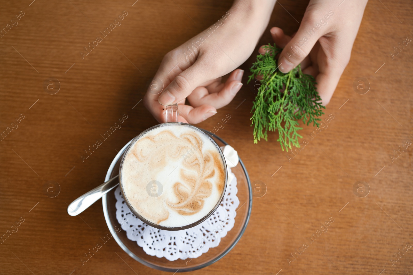
M 165 55 L 144 97 L 146 108 L 165 122 L 165 105 L 178 103 L 178 121 L 196 124 L 216 114 L 240 90 L 239 67 L 254 51 L 275 0 L 239 0 L 207 30 Z M 225 83 L 221 77 L 230 73 Z M 185 98 L 190 105 L 185 105 Z

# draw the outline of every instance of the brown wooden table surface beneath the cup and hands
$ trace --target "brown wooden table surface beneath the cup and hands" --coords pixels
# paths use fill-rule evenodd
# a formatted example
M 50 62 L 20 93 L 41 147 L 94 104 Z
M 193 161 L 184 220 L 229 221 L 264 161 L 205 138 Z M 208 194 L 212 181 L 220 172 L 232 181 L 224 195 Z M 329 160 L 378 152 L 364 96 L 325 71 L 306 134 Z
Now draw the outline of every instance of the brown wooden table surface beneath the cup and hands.
M 0 10 L 1 28 L 20 15 L 0 38 L 0 131 L 7 130 L 0 142 L 0 273 L 161 274 L 113 239 L 82 266 L 108 228 L 100 201 L 81 217 L 69 216 L 67 203 L 102 183 L 116 151 L 157 124 L 140 101 L 162 57 L 225 14 L 231 1 L 31 1 L 3 2 Z M 260 45 L 271 41 L 272 26 L 297 30 L 307 4 L 301 2 L 275 5 Z M 294 158 L 275 133 L 253 143 L 248 85 L 199 124 L 212 130 L 229 113 L 217 134 L 267 191 L 254 197 L 235 248 L 194 274 L 413 274 L 413 45 L 390 54 L 413 37 L 412 9 L 410 1 L 368 2 L 323 116 L 331 114 L 330 123 L 313 140 L 307 134 L 315 128 L 304 127 L 309 144 Z M 82 59 L 84 47 L 123 11 L 121 26 Z M 359 78 L 368 80 L 366 94 L 353 88 Z M 121 129 L 82 162 L 84 150 L 123 114 Z M 357 190 L 358 181 L 367 184 Z

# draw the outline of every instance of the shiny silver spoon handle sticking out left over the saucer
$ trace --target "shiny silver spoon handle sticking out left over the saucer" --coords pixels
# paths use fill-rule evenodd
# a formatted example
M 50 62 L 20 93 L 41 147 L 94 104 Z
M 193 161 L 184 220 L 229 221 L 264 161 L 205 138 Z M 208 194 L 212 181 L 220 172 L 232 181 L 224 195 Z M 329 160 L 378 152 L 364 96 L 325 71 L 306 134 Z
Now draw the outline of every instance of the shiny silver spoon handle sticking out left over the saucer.
M 67 213 L 69 213 L 70 216 L 76 216 L 82 213 L 86 208 L 99 200 L 104 194 L 118 186 L 118 184 L 119 175 L 109 179 L 109 181 L 102 183 L 100 186 L 97 186 L 88 193 L 81 195 L 76 200 L 71 202 L 71 204 L 67 207 Z

